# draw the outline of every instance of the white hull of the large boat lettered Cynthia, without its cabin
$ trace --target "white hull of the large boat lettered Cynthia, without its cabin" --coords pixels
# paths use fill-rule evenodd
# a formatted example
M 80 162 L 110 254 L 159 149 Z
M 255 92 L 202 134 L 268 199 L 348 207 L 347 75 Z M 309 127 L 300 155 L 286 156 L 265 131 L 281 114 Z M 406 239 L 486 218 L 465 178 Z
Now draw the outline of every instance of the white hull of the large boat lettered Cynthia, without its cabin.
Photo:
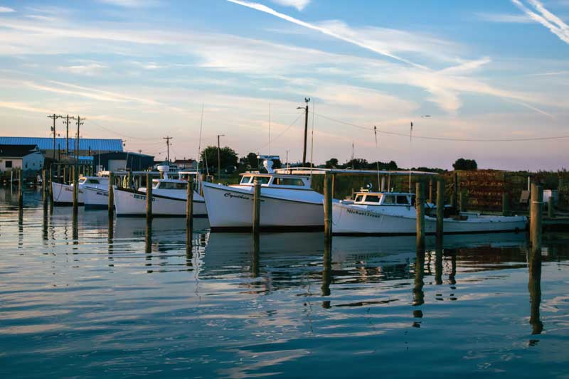
M 203 183 L 211 231 L 252 230 L 253 188 L 235 188 Z M 309 231 L 324 229 L 321 202 L 275 198 L 261 188 L 260 230 Z M 300 191 L 299 191 L 300 192 Z M 265 193 L 265 195 L 264 195 Z

